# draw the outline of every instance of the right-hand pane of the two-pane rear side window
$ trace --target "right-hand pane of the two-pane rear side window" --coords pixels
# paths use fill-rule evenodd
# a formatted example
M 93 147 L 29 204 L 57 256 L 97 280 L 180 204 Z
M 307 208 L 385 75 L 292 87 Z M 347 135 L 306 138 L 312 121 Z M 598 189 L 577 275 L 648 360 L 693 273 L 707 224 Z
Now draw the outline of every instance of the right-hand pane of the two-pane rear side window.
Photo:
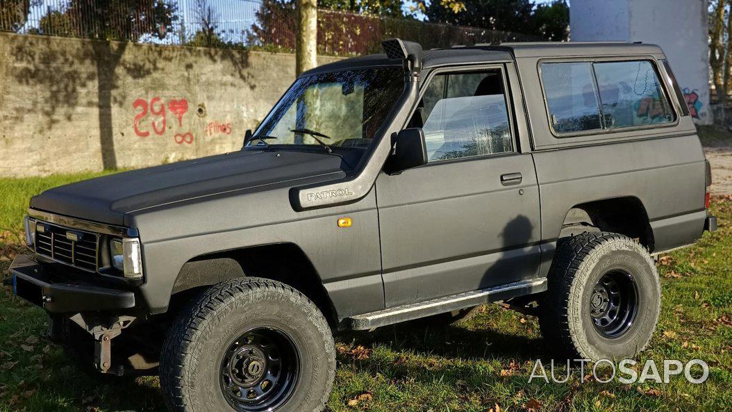
M 608 129 L 673 121 L 673 111 L 650 61 L 598 62 L 594 70 Z

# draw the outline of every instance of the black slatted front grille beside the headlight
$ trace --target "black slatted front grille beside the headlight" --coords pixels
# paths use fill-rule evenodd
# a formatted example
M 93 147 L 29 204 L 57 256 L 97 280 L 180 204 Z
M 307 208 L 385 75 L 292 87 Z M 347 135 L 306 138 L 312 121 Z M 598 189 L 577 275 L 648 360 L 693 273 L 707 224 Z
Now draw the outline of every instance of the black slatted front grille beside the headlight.
M 77 239 L 77 240 L 73 240 Z M 86 271 L 97 271 L 99 235 L 38 222 L 36 252 Z

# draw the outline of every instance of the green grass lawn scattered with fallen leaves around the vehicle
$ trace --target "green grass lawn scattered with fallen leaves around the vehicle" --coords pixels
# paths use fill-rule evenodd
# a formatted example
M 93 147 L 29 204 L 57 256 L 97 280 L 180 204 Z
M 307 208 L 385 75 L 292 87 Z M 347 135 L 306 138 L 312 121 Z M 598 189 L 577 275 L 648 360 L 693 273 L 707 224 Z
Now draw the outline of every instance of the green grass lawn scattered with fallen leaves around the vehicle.
M 22 248 L 20 220 L 36 192 L 87 175 L 0 179 L 0 269 Z M 550 364 L 536 319 L 488 305 L 458 326 L 411 322 L 337 337 L 331 411 L 721 411 L 732 405 L 732 196 L 714 198 L 720 230 L 662 257 L 662 312 L 639 364 L 703 359 L 693 385 L 567 383 L 529 375 Z M 0 412 L 165 411 L 157 378 L 102 384 L 79 372 L 45 336 L 42 310 L 0 292 Z M 640 368 L 638 368 L 640 369 Z M 564 376 L 565 369 L 556 370 Z M 638 370 L 638 372 L 641 372 Z M 662 372 L 661 372 L 662 373 Z

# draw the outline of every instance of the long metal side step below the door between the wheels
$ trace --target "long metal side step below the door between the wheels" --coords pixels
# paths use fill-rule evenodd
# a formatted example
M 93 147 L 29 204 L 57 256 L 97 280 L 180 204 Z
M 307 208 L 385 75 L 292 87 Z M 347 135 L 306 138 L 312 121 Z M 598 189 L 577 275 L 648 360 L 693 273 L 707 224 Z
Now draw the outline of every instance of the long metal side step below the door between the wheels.
M 351 318 L 344 319 L 344 323 L 346 328 L 351 330 L 374 329 L 392 323 L 411 321 L 417 318 L 424 318 L 425 316 L 437 315 L 438 313 L 450 312 L 491 301 L 506 300 L 546 290 L 547 278 L 539 277 L 537 279 L 521 280 L 519 282 L 480 289 L 479 291 L 444 296 L 419 303 L 403 304 L 389 309 L 364 313 L 363 315 L 355 315 L 351 316 Z

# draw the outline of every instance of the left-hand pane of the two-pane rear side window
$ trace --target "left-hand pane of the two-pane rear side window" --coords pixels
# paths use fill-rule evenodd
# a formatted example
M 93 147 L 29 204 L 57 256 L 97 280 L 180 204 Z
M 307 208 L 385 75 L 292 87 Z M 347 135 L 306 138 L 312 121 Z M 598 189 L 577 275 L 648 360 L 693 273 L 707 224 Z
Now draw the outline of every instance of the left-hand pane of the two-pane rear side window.
M 592 64 L 542 64 L 542 81 L 554 130 L 558 133 L 600 130 L 600 99 Z

